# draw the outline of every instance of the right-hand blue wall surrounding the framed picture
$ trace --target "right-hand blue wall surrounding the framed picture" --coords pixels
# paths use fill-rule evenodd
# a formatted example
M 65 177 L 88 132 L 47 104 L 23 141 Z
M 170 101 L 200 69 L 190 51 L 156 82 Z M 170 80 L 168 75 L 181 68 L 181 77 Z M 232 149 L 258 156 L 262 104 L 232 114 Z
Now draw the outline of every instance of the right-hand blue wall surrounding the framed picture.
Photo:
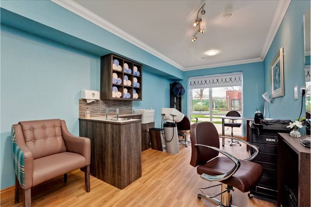
M 270 64 L 281 47 L 284 49 L 284 96 L 273 99 L 271 117 L 291 119 L 299 116 L 301 96 L 294 99 L 294 86 L 299 89 L 304 80 L 304 13 L 310 1 L 291 1 L 283 21 L 264 59 L 265 90 L 271 94 Z M 303 111 L 305 109 L 303 108 Z

